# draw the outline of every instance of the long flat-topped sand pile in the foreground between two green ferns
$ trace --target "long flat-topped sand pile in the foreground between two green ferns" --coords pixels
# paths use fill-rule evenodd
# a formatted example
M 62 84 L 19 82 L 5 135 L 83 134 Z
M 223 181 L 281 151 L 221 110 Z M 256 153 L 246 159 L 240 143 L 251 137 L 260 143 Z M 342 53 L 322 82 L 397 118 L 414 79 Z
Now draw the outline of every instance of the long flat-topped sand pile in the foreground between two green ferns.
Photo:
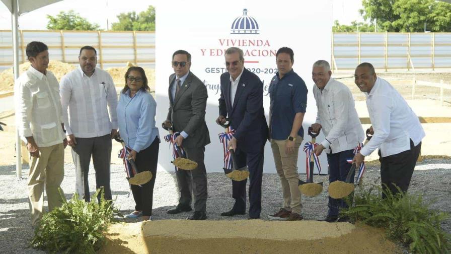
M 160 220 L 115 224 L 98 253 L 397 253 L 380 229 L 319 221 Z

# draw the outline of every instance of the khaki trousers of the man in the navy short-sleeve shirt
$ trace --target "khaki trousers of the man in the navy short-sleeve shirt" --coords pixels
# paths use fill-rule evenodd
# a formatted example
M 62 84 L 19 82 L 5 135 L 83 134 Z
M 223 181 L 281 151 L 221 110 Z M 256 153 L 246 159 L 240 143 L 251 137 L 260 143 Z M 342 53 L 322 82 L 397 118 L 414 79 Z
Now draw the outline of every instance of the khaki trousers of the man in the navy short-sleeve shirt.
M 294 142 L 294 152 L 285 153 L 286 140 L 271 139 L 271 149 L 274 155 L 274 163 L 277 174 L 280 177 L 283 193 L 283 208 L 293 213 L 300 214 L 302 204 L 300 203 L 300 192 L 297 188 L 299 183 L 299 174 L 297 173 L 297 156 L 299 146 L 303 138 L 297 136 Z

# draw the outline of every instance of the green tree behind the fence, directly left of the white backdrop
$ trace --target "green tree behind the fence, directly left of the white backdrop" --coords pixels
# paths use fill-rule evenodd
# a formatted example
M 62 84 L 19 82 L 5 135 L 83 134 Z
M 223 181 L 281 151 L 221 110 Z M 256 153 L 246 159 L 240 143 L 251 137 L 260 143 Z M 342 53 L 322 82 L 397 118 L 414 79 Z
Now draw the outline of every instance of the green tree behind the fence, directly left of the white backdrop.
M 155 31 L 155 7 L 149 6 L 147 10 L 121 13 L 117 16 L 119 22 L 111 24 L 114 31 Z

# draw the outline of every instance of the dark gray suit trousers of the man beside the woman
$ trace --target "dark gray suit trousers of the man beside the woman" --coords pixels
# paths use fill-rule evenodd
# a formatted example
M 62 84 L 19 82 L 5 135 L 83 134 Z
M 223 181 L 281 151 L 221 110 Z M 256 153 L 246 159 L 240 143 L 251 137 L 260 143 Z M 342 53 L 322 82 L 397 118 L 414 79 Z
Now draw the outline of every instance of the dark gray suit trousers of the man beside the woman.
M 205 169 L 204 152 L 202 148 L 183 148 L 186 157 L 197 162 L 197 168 L 193 170 L 179 169 L 176 172 L 177 183 L 180 190 L 179 205 L 191 207 L 191 193 L 194 195 L 194 211 L 206 212 L 207 203 L 207 171 Z

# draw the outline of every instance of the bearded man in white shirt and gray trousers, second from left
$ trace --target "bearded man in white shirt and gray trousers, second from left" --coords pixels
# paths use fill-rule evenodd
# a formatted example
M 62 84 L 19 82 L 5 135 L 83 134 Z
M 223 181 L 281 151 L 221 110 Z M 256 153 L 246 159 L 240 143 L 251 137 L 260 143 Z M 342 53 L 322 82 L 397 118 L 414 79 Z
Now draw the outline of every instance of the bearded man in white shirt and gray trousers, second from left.
M 103 186 L 105 199 L 111 200 L 111 139 L 117 133 L 116 88 L 110 74 L 96 68 L 95 48 L 82 47 L 79 62 L 78 69 L 61 79 L 60 90 L 68 145 L 72 147 L 76 167 L 76 192 L 90 201 L 88 173 L 92 156 L 96 188 Z M 100 201 L 100 195 L 97 198 Z

